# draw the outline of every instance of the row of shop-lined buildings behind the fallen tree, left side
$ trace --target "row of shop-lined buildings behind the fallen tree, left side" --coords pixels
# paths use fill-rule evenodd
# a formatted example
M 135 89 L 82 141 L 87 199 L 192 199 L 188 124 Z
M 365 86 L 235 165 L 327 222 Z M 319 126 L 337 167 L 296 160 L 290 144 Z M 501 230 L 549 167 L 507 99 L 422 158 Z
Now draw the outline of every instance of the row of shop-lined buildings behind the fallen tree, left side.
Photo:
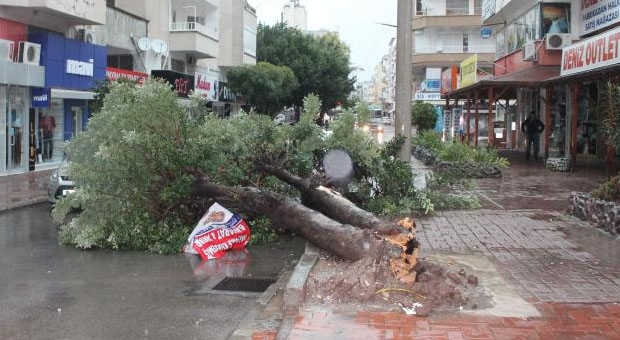
M 58 167 L 106 78 L 162 77 L 180 98 L 195 91 L 226 115 L 243 104 L 227 70 L 256 63 L 256 12 L 245 0 L 0 5 L 0 176 Z

